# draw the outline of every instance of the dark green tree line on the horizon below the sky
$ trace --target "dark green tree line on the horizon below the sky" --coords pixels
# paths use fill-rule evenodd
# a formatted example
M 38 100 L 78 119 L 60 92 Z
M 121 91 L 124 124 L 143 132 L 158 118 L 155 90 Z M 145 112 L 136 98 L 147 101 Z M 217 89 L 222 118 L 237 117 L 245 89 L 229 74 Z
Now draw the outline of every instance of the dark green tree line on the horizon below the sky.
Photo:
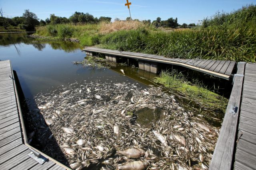
M 54 14 L 50 14 L 50 18 L 46 18 L 46 20 L 40 20 L 34 14 L 33 12 L 30 12 L 29 10 L 25 10 L 23 15 L 21 17 L 14 17 L 14 18 L 6 18 L 3 17 L 2 8 L 0 9 L 0 26 L 3 26 L 4 28 L 8 28 L 10 26 L 16 26 L 20 29 L 26 29 L 28 31 L 34 30 L 36 26 L 44 26 L 47 24 L 61 24 L 61 23 L 100 23 L 100 22 L 111 22 L 111 17 L 104 17 L 101 16 L 100 18 L 94 17 L 93 15 L 89 13 L 83 13 L 83 12 L 75 12 L 70 16 L 69 18 L 66 17 L 60 17 L 55 16 Z M 126 18 L 126 21 L 130 21 L 131 18 Z M 121 21 L 119 18 L 116 18 L 114 21 Z M 134 21 L 140 21 L 138 19 L 135 19 Z M 142 20 L 141 21 L 144 24 L 148 25 L 154 25 L 155 27 L 171 27 L 171 28 L 177 28 L 177 27 L 188 27 L 188 26 L 196 26 L 194 23 L 186 24 L 183 23 L 182 25 L 178 24 L 178 18 L 169 18 L 168 20 L 161 20 L 160 17 L 156 18 L 156 20 Z

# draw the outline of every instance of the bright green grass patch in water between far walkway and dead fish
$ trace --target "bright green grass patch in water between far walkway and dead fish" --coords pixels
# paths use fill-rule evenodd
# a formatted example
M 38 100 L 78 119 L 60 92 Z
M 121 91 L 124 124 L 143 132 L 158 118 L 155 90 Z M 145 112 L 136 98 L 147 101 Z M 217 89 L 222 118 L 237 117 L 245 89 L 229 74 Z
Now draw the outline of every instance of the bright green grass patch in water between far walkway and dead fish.
M 162 71 L 154 82 L 163 84 L 188 101 L 198 104 L 201 110 L 213 110 L 224 115 L 228 104 L 228 99 L 207 90 L 202 83 L 189 82 L 182 73 L 176 70 L 171 72 Z

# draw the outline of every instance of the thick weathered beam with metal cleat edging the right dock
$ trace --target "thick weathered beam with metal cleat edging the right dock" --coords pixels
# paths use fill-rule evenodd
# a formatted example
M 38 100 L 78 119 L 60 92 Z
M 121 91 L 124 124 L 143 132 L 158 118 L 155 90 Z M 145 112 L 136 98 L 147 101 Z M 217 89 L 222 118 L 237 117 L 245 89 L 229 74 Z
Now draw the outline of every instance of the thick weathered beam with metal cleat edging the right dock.
M 238 63 L 238 72 L 244 73 L 245 63 Z M 236 129 L 238 125 L 238 113 L 242 94 L 243 77 L 236 76 L 234 85 L 228 101 L 228 107 L 222 122 L 218 141 L 212 156 L 210 170 L 229 170 L 232 167 L 233 151 L 236 139 Z M 238 108 L 238 113 L 230 114 L 229 109 L 233 103 Z

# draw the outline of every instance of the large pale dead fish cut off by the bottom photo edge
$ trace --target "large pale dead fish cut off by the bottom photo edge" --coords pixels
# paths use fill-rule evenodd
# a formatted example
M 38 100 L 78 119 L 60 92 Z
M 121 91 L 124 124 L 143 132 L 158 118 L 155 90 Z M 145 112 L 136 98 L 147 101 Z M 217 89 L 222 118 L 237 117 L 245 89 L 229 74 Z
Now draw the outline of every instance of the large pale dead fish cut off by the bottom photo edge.
M 149 163 L 145 161 L 134 161 L 128 162 L 126 164 L 118 165 L 116 168 L 118 170 L 144 170 L 148 167 Z

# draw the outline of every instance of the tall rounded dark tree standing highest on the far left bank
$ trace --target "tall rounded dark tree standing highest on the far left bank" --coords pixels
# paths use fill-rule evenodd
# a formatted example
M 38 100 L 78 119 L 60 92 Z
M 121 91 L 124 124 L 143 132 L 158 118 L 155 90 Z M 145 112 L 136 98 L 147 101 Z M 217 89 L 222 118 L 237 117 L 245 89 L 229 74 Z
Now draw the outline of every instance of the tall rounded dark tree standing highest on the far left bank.
M 30 12 L 29 10 L 25 10 L 23 16 L 25 19 L 26 29 L 27 30 L 34 30 L 36 25 L 39 25 L 38 18 L 36 14 Z

